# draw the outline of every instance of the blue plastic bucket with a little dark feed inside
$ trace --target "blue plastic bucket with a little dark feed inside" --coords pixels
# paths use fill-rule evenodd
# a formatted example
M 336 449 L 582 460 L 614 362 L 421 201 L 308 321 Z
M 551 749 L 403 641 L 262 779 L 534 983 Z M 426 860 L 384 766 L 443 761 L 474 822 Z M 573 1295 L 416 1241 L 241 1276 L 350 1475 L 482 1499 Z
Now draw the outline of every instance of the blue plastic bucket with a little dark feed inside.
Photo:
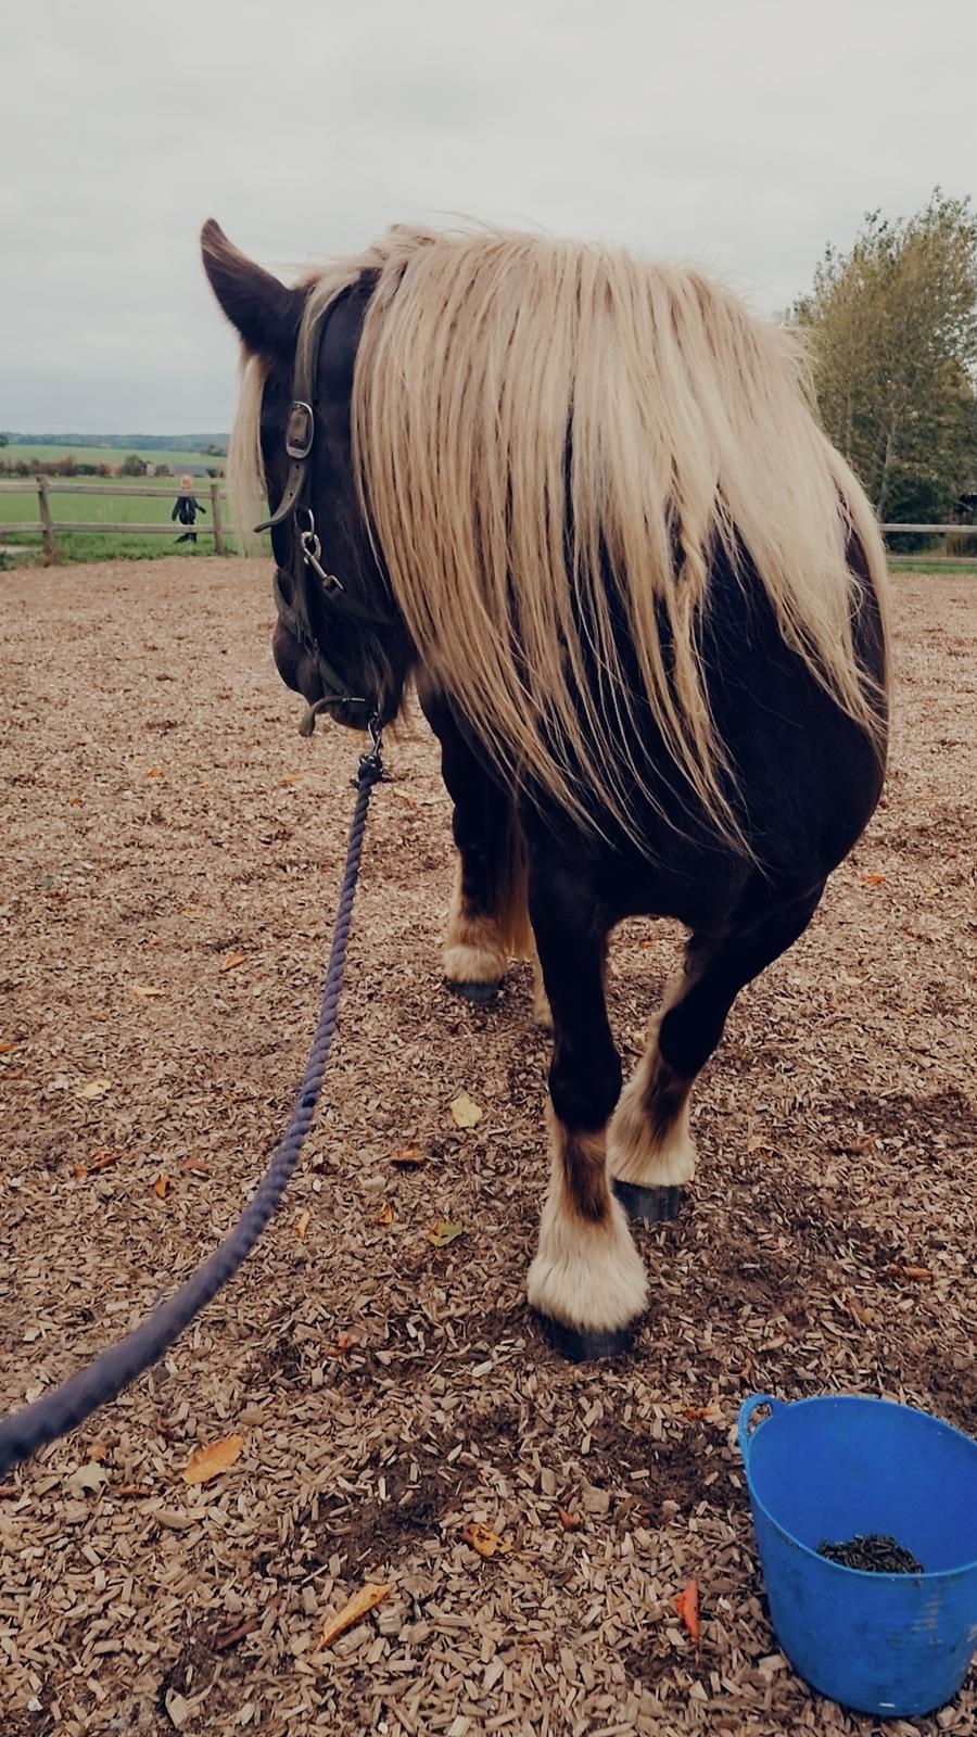
M 770 1416 L 753 1433 L 758 1405 Z M 977 1442 L 888 1400 L 739 1410 L 753 1523 L 782 1652 L 819 1694 L 911 1716 L 949 1701 L 977 1647 Z M 925 1574 L 867 1574 L 824 1541 L 895 1537 Z

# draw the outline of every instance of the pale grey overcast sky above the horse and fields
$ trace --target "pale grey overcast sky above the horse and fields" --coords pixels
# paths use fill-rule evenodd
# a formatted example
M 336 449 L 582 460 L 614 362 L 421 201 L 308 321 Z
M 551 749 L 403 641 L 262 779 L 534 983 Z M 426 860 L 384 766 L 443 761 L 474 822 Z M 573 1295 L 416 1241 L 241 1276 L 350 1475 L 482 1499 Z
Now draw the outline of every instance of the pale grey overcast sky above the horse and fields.
M 977 0 L 21 7 L 0 429 L 228 427 L 207 215 L 285 276 L 468 214 L 695 257 L 784 307 L 866 210 L 977 193 L 975 76 Z

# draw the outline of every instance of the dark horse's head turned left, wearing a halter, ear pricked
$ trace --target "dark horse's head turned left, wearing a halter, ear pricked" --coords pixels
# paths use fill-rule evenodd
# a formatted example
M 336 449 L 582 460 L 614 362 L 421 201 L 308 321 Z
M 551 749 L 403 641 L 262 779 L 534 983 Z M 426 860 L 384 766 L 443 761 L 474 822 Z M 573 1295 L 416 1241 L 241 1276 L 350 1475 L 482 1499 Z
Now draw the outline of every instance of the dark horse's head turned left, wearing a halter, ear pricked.
M 363 519 L 351 439 L 353 368 L 374 281 L 363 274 L 308 320 L 311 287 L 287 288 L 238 254 L 212 219 L 202 250 L 214 294 L 263 377 L 278 674 L 355 730 L 372 716 L 388 723 L 412 646 Z M 249 438 L 254 446 L 254 429 L 236 433 L 238 446 Z

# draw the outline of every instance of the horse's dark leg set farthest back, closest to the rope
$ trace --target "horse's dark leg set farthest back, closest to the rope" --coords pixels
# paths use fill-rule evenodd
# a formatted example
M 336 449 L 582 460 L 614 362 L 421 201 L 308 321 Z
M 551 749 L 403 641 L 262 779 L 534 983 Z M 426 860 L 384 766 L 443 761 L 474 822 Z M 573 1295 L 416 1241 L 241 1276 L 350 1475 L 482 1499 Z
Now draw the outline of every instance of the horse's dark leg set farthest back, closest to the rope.
M 454 802 L 455 881 L 443 943 L 449 987 L 468 1001 L 492 1001 L 511 957 L 530 950 L 525 848 L 508 790 L 473 754 L 440 697 L 424 695 L 424 716 L 442 745 L 442 776 Z

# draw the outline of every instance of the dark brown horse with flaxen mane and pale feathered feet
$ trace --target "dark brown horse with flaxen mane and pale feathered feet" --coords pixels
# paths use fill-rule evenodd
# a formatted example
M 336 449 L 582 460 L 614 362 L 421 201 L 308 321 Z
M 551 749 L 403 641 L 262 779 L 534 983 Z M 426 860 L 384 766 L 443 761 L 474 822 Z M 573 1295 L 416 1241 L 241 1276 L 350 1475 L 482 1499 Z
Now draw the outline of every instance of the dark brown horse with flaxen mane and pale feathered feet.
M 490 1001 L 532 955 L 553 1030 L 528 1303 L 563 1355 L 617 1355 L 648 1294 L 629 1221 L 694 1176 L 694 1082 L 883 787 L 873 511 L 794 335 L 697 267 L 398 226 L 285 285 L 212 219 L 202 254 L 278 672 L 309 730 L 417 693 L 454 802 L 445 978 Z M 688 940 L 622 1089 L 605 962 L 633 915 Z

